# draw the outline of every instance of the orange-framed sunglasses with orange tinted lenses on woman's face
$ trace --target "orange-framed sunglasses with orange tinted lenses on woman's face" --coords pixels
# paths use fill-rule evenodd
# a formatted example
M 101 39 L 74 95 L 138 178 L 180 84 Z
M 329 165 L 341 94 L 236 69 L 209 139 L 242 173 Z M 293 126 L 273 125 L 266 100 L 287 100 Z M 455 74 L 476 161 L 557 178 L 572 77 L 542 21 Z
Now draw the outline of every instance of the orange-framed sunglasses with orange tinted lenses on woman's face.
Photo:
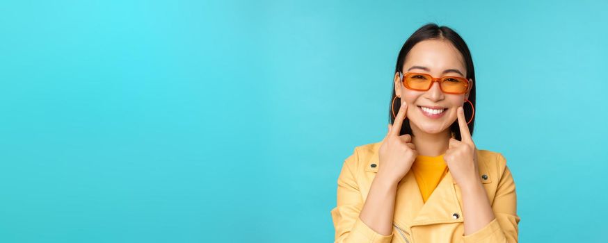
M 438 82 L 441 91 L 446 94 L 464 94 L 469 90 L 470 82 L 466 78 L 454 76 L 442 76 L 441 78 L 433 78 L 429 74 L 405 73 L 399 72 L 399 78 L 410 90 L 426 91 L 430 90 L 433 82 Z

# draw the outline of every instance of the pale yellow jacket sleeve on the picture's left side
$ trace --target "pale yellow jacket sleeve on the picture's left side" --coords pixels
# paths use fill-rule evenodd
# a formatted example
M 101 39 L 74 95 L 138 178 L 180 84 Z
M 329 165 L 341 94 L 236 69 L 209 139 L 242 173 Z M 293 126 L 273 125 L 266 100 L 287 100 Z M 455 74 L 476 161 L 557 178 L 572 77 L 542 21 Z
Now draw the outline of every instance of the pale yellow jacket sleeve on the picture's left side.
M 335 242 L 388 243 L 392 240 L 392 233 L 390 235 L 376 233 L 359 219 L 359 213 L 363 208 L 363 200 L 355 176 L 357 167 L 358 153 L 355 149 L 353 155 L 344 160 L 342 171 L 338 176 L 337 206 L 331 210 L 335 228 Z

